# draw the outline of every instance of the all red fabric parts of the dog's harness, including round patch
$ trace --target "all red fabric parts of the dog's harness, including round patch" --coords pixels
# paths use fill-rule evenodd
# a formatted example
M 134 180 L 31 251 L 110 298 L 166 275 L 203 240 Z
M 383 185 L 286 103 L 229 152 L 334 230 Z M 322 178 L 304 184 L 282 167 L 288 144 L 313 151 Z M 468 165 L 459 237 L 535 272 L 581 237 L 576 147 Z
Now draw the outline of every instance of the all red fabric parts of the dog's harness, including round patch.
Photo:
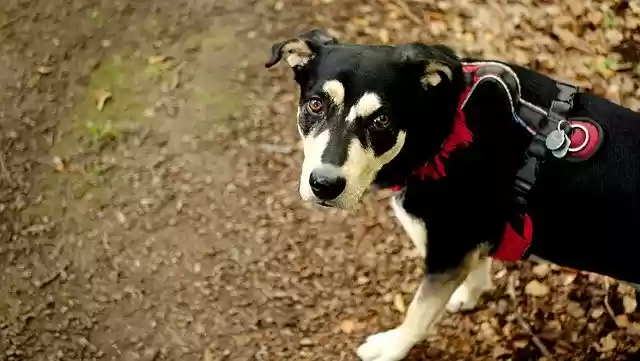
M 460 95 L 456 116 L 453 121 L 453 130 L 444 141 L 440 152 L 437 153 L 431 161 L 427 162 L 414 172 L 414 174 L 418 175 L 420 179 L 431 178 L 437 180 L 445 177 L 446 169 L 443 160 L 448 159 L 454 149 L 467 146 L 473 140 L 473 134 L 466 124 L 463 105 L 469 97 L 473 89 L 473 85 L 479 81 L 479 77 L 476 74 L 476 71 L 481 66 L 482 65 L 478 64 L 469 64 L 463 66 L 463 71 L 465 73 L 474 75 L 473 81 L 470 82 L 471 84 L 467 85 L 467 87 Z M 586 127 L 579 129 L 587 129 L 589 135 L 591 136 L 590 139 L 586 140 L 586 134 L 584 133 L 584 131 L 573 132 L 570 136 L 571 144 L 586 144 L 579 151 L 573 152 L 572 155 L 576 156 L 577 158 L 582 158 L 588 157 L 593 154 L 599 142 L 599 132 L 597 131 L 597 129 L 595 129 L 591 123 L 581 122 L 579 120 L 569 120 L 568 123 L 571 125 L 582 125 Z M 593 132 L 592 128 L 594 128 Z M 403 186 L 392 187 L 392 189 L 395 191 L 399 191 L 402 188 Z M 500 241 L 500 244 L 496 251 L 492 254 L 493 258 L 503 261 L 521 260 L 525 252 L 531 245 L 531 241 L 533 239 L 533 223 L 531 221 L 531 217 L 524 212 L 514 216 L 516 219 L 506 222 L 502 240 Z

